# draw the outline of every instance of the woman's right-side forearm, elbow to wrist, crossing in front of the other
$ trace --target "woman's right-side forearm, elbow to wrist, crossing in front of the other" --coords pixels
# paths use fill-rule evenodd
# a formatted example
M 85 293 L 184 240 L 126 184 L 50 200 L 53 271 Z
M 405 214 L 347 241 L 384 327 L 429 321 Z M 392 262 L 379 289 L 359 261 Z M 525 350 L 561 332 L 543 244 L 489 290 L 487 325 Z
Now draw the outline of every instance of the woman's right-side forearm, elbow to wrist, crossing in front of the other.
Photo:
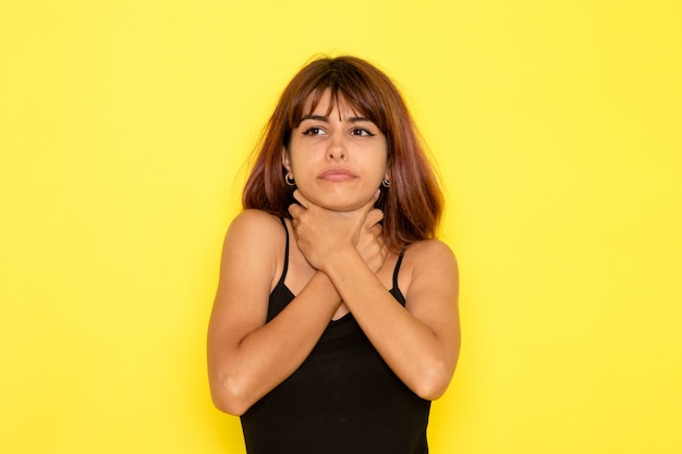
M 325 272 L 393 372 L 424 398 L 440 396 L 452 375 L 443 340 L 395 302 L 358 254 L 341 251 Z

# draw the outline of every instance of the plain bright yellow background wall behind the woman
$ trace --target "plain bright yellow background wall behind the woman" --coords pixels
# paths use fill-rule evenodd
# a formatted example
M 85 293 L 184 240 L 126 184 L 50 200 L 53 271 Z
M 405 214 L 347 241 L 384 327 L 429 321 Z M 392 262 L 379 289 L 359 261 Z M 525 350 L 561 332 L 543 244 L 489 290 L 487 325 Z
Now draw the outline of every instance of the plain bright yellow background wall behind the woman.
M 431 451 L 682 452 L 680 24 L 674 0 L 1 0 L 0 451 L 243 452 L 205 372 L 222 235 L 283 85 L 350 52 L 446 185 L 463 349 Z

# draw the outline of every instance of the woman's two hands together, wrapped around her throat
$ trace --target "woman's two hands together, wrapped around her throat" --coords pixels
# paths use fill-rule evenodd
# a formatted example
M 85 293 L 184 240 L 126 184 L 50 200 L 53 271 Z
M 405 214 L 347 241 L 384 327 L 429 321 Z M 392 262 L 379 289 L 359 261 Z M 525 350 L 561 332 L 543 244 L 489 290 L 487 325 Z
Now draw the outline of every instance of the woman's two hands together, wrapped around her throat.
M 324 270 L 329 260 L 350 249 L 360 253 L 373 270 L 377 265 L 380 267 L 383 242 L 378 222 L 383 214 L 380 210 L 373 210 L 376 196 L 357 210 L 348 212 L 321 208 L 307 200 L 299 191 L 294 192 L 294 198 L 300 204 L 289 207 L 294 236 L 299 248 L 314 268 Z M 368 217 L 370 211 L 373 214 Z

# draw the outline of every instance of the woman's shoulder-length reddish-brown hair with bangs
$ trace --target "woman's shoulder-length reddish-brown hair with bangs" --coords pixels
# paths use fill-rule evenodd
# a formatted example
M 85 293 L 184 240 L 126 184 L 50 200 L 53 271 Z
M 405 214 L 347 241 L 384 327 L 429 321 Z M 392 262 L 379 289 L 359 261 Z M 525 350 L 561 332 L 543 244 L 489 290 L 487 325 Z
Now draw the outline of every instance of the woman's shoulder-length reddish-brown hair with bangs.
M 414 121 L 395 85 L 356 57 L 314 60 L 289 83 L 264 131 L 244 187 L 244 209 L 289 217 L 293 187 L 284 182 L 282 149 L 289 147 L 292 131 L 315 110 L 327 89 L 336 102 L 342 97 L 386 136 L 391 185 L 381 187 L 376 206 L 383 211 L 388 247 L 397 251 L 415 241 L 434 237 L 442 213 L 442 194 Z M 308 99 L 310 112 L 304 112 Z

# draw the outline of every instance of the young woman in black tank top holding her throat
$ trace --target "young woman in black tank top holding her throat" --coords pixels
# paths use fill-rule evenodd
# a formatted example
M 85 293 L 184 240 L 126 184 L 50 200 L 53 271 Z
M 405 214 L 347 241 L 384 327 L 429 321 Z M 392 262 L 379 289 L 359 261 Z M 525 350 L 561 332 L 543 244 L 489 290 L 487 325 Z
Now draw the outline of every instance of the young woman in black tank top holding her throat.
M 428 452 L 459 355 L 458 269 L 399 91 L 364 60 L 315 60 L 258 151 L 209 323 L 216 406 L 241 416 L 249 454 Z

